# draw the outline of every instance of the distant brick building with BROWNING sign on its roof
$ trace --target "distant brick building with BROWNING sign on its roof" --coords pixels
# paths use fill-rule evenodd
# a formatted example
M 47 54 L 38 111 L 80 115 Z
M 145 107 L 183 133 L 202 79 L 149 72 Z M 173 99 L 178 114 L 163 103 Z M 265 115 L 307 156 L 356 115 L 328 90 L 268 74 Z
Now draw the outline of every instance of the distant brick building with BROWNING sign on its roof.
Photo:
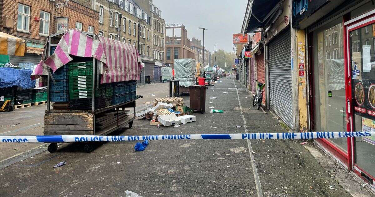
M 190 39 L 183 24 L 165 25 L 165 60 L 173 68 L 174 59 L 195 59 L 195 50 L 190 48 Z

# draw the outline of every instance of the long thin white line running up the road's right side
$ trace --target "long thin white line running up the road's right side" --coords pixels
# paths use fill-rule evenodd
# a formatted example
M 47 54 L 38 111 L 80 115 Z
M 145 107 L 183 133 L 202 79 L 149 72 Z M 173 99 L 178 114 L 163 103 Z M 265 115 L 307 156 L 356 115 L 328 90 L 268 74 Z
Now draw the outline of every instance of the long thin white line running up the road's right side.
M 233 84 L 234 84 L 234 87 L 236 87 L 236 90 L 237 90 L 237 86 L 236 86 L 236 83 L 234 83 L 234 79 L 233 79 Z M 245 133 L 248 133 L 248 129 L 246 128 L 245 116 L 243 116 L 243 113 L 242 113 L 242 106 L 241 106 L 240 95 L 238 94 L 238 90 L 237 90 L 237 98 L 238 98 L 238 103 L 240 105 L 241 116 L 242 116 L 242 120 L 243 120 L 243 128 L 245 129 Z M 251 147 L 251 141 L 250 140 L 247 140 L 247 141 L 248 141 L 248 147 L 249 147 L 249 154 L 250 154 L 250 159 L 251 159 L 251 165 L 252 165 L 253 173 L 254 173 L 255 187 L 257 188 L 258 197 L 263 197 L 263 191 L 262 191 L 262 187 L 260 185 L 258 168 L 257 168 L 257 164 L 255 164 L 255 159 L 254 159 L 254 155 L 253 155 L 253 149 Z

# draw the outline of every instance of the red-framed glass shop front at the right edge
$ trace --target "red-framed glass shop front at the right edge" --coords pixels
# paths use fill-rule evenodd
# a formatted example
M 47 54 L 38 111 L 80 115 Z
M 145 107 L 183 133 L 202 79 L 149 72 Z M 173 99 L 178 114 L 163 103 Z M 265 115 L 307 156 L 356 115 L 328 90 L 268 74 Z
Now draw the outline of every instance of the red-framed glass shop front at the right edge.
M 375 131 L 375 6 L 371 1 L 355 0 L 329 2 L 320 9 L 327 8 L 331 9 L 329 14 L 326 11 L 320 20 L 318 15 L 309 16 L 318 18 L 315 22 L 305 17 L 304 24 L 298 22 L 298 16 L 292 18 L 294 28 L 305 27 L 306 46 L 311 46 L 306 65 L 310 130 Z M 375 137 L 326 138 L 316 142 L 374 187 Z

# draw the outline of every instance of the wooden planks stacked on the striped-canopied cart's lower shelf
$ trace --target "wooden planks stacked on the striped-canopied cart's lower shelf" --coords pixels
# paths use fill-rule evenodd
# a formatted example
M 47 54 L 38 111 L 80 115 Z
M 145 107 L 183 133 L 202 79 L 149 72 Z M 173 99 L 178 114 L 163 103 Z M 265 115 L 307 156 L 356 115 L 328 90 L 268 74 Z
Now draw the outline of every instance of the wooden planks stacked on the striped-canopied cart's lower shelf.
M 130 110 L 110 110 L 96 115 L 96 129 L 102 130 L 110 126 L 117 125 L 117 122 L 120 125 L 127 118 L 127 112 L 129 111 Z

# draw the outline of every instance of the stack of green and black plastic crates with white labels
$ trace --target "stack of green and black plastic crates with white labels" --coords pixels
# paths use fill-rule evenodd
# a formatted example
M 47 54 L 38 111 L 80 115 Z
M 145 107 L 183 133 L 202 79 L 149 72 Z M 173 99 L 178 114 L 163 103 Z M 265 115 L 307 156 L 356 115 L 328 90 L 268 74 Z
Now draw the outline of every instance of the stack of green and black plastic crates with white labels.
M 74 62 L 69 66 L 69 100 L 71 110 L 92 108 L 93 63 Z

